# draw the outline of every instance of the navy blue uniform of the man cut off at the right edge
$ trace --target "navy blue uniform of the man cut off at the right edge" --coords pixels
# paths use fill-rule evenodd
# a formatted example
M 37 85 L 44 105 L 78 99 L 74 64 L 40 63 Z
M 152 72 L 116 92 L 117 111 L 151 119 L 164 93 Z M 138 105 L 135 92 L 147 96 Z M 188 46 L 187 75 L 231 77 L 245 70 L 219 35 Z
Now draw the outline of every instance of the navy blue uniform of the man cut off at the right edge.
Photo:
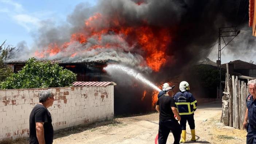
M 253 96 L 249 94 L 247 97 L 247 109 L 248 109 L 248 127 L 247 127 L 247 144 L 256 144 L 256 101 L 253 100 Z

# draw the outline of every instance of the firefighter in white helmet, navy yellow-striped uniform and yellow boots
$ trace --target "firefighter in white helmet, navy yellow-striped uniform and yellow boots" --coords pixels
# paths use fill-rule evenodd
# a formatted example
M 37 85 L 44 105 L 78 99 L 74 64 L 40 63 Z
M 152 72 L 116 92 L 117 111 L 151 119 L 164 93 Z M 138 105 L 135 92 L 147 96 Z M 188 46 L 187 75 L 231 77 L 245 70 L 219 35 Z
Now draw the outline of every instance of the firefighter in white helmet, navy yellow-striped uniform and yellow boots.
M 176 93 L 174 96 L 175 104 L 179 115 L 181 116 L 181 141 L 180 143 L 186 142 L 186 123 L 189 123 L 191 130 L 191 141 L 196 141 L 195 139 L 195 120 L 194 120 L 194 111 L 197 109 L 197 100 L 189 92 L 189 83 L 182 81 L 179 84 L 180 92 Z

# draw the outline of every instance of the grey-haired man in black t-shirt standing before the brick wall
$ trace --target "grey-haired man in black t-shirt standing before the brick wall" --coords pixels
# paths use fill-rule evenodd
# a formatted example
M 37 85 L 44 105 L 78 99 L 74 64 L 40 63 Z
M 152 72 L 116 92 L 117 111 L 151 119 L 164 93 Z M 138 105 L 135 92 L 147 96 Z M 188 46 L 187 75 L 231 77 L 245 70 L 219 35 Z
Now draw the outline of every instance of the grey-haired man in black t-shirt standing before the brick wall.
M 30 144 L 52 144 L 53 125 L 51 114 L 47 110 L 53 105 L 54 96 L 49 90 L 39 94 L 39 104 L 30 113 L 29 118 L 29 143 Z

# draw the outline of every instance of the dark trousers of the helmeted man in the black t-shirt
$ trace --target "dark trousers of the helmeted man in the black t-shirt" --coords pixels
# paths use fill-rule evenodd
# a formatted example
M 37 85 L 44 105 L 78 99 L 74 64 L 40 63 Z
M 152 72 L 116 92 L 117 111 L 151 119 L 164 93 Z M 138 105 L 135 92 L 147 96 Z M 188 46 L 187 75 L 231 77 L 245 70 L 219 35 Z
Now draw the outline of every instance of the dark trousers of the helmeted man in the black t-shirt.
M 172 132 L 174 144 L 179 144 L 181 139 L 181 125 L 177 120 L 159 121 L 158 144 L 166 144 L 168 135 Z

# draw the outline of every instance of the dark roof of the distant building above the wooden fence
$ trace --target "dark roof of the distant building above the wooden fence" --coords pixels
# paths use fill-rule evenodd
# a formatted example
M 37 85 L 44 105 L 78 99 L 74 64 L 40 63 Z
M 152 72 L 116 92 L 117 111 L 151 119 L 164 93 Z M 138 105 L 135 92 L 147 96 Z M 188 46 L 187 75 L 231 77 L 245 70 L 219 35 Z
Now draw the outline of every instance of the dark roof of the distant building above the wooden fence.
M 256 69 L 256 65 L 248 62 L 244 62 L 241 60 L 231 61 L 229 63 L 234 64 L 234 70 L 240 70 L 240 69 Z M 226 63 L 221 65 L 222 67 L 226 67 Z

